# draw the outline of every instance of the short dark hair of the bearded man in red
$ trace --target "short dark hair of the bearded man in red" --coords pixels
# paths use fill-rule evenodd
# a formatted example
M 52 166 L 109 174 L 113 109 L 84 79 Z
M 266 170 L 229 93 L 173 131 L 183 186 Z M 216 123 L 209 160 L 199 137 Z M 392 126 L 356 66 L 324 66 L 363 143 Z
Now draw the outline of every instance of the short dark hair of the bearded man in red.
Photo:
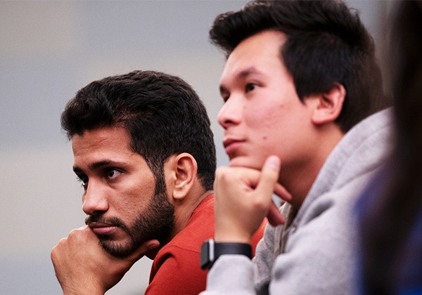
M 91 82 L 80 89 L 61 115 L 69 139 L 102 127 L 121 126 L 130 148 L 157 176 L 172 155 L 188 152 L 198 178 L 212 190 L 216 157 L 210 119 L 195 91 L 170 74 L 134 71 Z

